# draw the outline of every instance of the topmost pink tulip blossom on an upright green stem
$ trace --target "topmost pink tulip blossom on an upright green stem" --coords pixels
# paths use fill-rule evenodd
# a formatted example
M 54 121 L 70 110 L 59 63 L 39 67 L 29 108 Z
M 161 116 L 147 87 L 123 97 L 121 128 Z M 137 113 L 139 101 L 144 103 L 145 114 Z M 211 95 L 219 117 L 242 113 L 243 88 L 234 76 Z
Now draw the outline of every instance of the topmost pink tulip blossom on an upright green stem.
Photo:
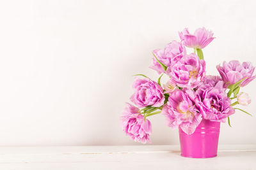
M 194 34 L 190 34 L 188 29 L 179 32 L 180 39 L 189 48 L 205 48 L 214 39 L 213 33 L 204 27 L 196 29 Z

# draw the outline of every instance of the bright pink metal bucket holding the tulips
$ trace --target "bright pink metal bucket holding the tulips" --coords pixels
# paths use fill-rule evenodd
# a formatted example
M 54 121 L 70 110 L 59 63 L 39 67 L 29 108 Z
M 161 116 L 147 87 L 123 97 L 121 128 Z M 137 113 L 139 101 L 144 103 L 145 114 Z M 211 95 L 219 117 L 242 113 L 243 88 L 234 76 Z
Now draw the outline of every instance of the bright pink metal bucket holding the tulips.
M 179 127 L 180 155 L 189 158 L 217 156 L 220 122 L 203 119 L 196 131 L 188 135 Z

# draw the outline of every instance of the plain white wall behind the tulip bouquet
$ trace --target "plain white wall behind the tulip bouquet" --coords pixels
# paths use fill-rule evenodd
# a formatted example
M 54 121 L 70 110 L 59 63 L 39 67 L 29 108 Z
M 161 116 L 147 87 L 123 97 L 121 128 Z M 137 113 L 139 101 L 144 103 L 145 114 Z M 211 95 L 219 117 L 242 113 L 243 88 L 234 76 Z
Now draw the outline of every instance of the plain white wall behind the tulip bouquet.
M 223 60 L 256 66 L 255 1 L 1 1 L 0 145 L 138 145 L 119 117 L 132 74 L 148 69 L 152 50 L 184 27 L 211 29 L 207 73 Z M 256 144 L 256 81 L 221 144 Z M 150 117 L 154 145 L 178 144 L 162 115 Z

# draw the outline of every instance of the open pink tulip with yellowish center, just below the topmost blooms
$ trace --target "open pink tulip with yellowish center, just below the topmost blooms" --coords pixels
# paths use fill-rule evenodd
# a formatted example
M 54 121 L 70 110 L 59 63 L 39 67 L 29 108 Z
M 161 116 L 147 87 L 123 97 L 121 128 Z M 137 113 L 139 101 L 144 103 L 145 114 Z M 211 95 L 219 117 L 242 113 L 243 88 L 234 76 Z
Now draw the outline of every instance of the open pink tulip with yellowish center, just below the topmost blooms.
M 193 89 L 205 77 L 205 61 L 191 53 L 182 57 L 172 68 L 168 68 L 166 73 L 170 75 L 172 83 Z

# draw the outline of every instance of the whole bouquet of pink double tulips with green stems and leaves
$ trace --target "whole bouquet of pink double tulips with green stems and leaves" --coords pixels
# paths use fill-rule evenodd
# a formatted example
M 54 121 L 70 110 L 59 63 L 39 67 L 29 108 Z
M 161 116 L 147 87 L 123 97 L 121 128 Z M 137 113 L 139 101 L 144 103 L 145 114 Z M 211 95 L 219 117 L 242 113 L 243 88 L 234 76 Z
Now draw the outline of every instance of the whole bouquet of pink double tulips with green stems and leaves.
M 232 60 L 218 65 L 220 76 L 205 75 L 205 60 L 202 49 L 214 39 L 213 33 L 205 28 L 179 32 L 180 42 L 172 41 L 164 50 L 153 51 L 151 69 L 157 71 L 158 81 L 135 78 L 134 94 L 122 115 L 125 134 L 140 143 L 150 142 L 152 127 L 148 117 L 161 113 L 169 127 L 180 127 L 186 134 L 193 134 L 202 119 L 226 122 L 235 113 L 235 105 L 246 106 L 250 97 L 239 92 L 255 78 L 255 67 L 251 62 Z M 187 53 L 186 47 L 194 53 Z M 167 74 L 170 80 L 161 86 L 161 77 Z M 249 114 L 249 113 L 247 113 Z M 249 114 L 250 115 L 250 114 Z

